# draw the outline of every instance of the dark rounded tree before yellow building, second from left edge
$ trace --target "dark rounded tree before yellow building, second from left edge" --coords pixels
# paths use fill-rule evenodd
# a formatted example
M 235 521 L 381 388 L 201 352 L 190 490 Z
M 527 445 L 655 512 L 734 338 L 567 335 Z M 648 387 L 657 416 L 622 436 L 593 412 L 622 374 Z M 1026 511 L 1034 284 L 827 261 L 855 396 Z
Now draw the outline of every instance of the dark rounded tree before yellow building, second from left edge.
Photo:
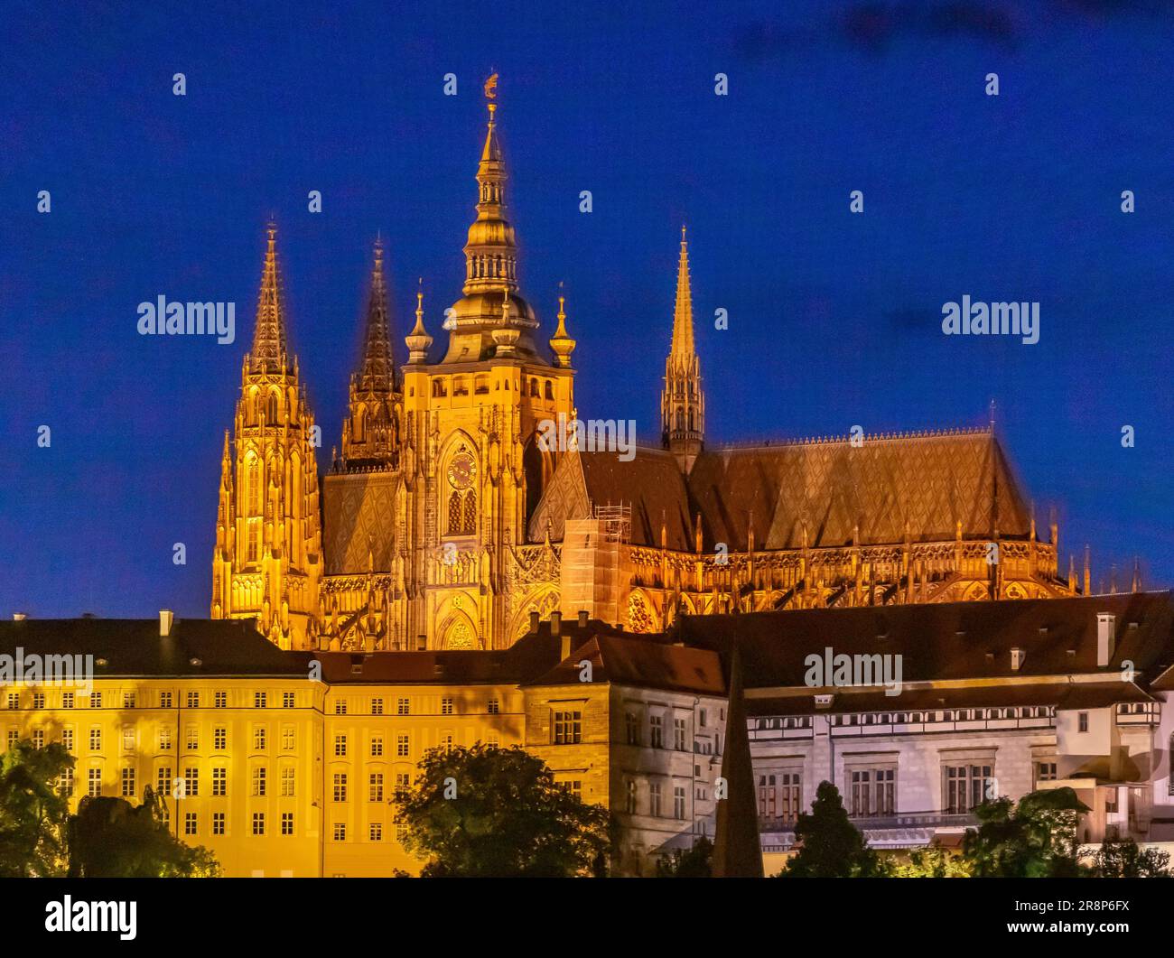
M 173 837 L 163 803 L 148 788 L 140 805 L 86 796 L 69 817 L 70 878 L 215 878 L 220 863 L 202 845 Z

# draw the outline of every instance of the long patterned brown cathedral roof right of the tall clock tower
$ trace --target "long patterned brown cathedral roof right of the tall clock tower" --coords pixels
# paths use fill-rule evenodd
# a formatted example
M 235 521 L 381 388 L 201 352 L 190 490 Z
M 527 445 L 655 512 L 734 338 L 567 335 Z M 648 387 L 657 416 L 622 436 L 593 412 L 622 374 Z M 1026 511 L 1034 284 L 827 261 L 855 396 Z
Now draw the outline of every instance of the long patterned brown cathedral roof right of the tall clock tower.
M 566 473 L 560 477 L 558 473 Z M 559 480 L 562 479 L 562 483 Z M 573 488 L 575 494 L 568 494 Z M 966 539 L 997 528 L 1026 538 L 1031 515 L 1011 464 L 989 430 L 865 437 L 707 450 L 686 477 L 667 451 L 637 448 L 622 463 L 612 452 L 564 457 L 544 494 L 529 534 L 541 539 L 546 520 L 561 539 L 566 518 L 589 507 L 630 502 L 632 541 L 660 546 L 663 515 L 668 547 L 691 552 L 700 512 L 702 545 L 744 549 L 754 521 L 755 547 L 844 546 L 858 526 L 861 545 L 950 541 L 962 522 Z

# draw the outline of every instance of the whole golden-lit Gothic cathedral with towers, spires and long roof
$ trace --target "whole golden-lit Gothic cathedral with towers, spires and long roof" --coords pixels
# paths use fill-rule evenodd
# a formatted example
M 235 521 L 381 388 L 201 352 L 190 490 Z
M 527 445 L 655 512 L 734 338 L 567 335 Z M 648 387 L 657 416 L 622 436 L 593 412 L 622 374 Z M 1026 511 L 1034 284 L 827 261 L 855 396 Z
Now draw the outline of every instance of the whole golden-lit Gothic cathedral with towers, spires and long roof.
M 446 338 L 427 331 L 418 291 L 397 362 L 376 243 L 362 356 L 321 485 L 322 433 L 286 345 L 270 224 L 224 436 L 214 619 L 256 619 L 286 649 L 502 649 L 555 613 L 660 632 L 706 613 L 1089 592 L 1087 552 L 1078 583 L 1071 559 L 1060 574 L 1054 517 L 1037 534 L 993 420 L 709 441 L 684 230 L 660 445 L 620 457 L 539 441 L 544 423 L 578 417 L 575 340 L 562 297 L 542 342 L 521 294 L 491 85 L 486 96 L 477 217 Z

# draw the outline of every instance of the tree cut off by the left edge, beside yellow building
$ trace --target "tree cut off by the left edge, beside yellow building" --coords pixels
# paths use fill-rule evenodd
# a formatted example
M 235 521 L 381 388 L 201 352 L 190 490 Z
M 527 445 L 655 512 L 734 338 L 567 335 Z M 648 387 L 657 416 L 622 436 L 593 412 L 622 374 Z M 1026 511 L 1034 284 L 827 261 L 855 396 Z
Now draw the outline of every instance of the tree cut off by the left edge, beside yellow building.
M 69 801 L 58 784 L 73 763 L 61 744 L 36 748 L 27 738 L 0 755 L 0 877 L 65 872 Z

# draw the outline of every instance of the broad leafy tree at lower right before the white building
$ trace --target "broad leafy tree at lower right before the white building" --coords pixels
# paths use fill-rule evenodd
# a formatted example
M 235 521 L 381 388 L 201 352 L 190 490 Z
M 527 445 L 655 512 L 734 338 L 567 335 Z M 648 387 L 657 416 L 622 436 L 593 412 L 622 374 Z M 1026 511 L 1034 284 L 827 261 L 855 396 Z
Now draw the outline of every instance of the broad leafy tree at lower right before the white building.
M 1071 788 L 1001 797 L 974 808 L 978 829 L 963 839 L 963 857 L 978 878 L 1077 877 L 1077 818 L 1087 812 Z

